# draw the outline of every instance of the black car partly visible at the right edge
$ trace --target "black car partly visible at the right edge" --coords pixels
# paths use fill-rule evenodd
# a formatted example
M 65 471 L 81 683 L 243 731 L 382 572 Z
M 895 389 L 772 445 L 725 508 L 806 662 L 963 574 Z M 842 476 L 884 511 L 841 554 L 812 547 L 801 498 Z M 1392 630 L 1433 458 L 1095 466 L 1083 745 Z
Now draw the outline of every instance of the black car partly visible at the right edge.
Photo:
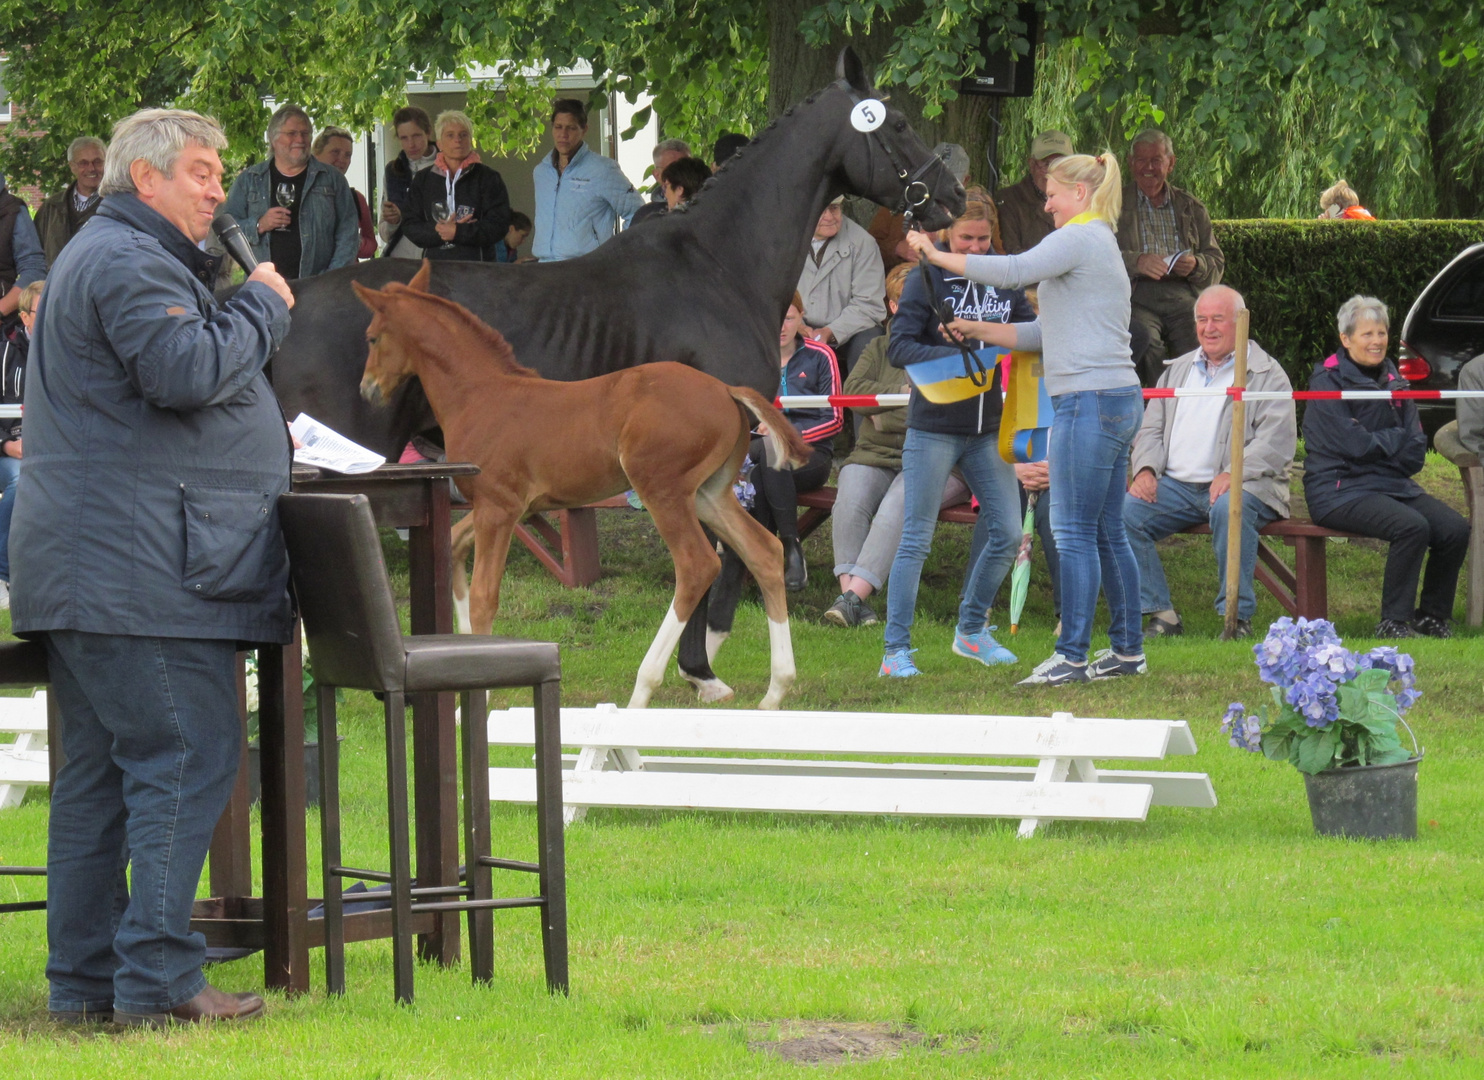
M 1396 368 L 1413 390 L 1457 390 L 1459 368 L 1484 353 L 1484 243 L 1465 248 L 1417 297 L 1401 326 Z M 1453 401 L 1419 401 L 1431 441 Z

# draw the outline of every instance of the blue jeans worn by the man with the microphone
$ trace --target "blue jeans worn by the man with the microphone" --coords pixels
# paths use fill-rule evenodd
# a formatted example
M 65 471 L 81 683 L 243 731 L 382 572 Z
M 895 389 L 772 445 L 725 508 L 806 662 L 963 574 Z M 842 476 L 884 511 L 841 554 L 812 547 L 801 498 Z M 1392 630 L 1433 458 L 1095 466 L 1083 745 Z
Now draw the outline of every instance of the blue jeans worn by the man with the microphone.
M 242 755 L 236 642 L 52 630 L 46 654 L 67 754 L 46 853 L 49 1007 L 166 1012 L 206 987 L 190 914 Z

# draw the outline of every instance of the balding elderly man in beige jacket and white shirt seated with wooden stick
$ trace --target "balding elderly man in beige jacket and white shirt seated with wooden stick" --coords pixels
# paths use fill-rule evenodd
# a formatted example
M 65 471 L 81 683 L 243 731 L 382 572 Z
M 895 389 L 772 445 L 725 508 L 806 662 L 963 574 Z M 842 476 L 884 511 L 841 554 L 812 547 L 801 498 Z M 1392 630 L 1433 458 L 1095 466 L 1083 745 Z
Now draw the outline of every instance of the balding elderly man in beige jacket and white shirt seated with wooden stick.
M 1212 285 L 1196 300 L 1196 335 L 1201 347 L 1171 360 L 1159 386 L 1227 387 L 1236 368 L 1236 313 L 1241 294 Z M 1247 346 L 1250 390 L 1291 390 L 1278 360 L 1255 341 Z M 1252 632 L 1252 568 L 1257 564 L 1257 530 L 1288 516 L 1288 472 L 1298 429 L 1294 404 L 1247 404 L 1242 441 L 1242 577 L 1236 598 L 1236 632 Z M 1138 559 L 1140 605 L 1149 616 L 1144 636 L 1183 632 L 1169 601 L 1169 585 L 1155 541 L 1202 522 L 1211 525 L 1215 549 L 1215 610 L 1226 614 L 1226 530 L 1232 488 L 1232 399 L 1153 398 L 1129 457 L 1134 482 L 1123 503 L 1123 527 Z

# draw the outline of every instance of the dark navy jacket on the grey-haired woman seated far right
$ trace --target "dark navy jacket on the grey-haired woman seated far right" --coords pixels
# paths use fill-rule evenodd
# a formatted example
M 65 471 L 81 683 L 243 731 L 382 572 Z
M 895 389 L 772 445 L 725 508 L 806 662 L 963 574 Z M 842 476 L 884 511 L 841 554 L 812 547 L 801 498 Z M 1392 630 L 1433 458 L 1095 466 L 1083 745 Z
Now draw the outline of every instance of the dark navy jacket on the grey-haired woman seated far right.
M 1371 374 L 1342 347 L 1313 369 L 1309 389 L 1405 390 L 1407 380 L 1391 360 Z M 1312 401 L 1303 414 L 1303 494 L 1315 521 L 1361 495 L 1422 494 L 1411 478 L 1428 455 L 1428 436 L 1416 402 Z

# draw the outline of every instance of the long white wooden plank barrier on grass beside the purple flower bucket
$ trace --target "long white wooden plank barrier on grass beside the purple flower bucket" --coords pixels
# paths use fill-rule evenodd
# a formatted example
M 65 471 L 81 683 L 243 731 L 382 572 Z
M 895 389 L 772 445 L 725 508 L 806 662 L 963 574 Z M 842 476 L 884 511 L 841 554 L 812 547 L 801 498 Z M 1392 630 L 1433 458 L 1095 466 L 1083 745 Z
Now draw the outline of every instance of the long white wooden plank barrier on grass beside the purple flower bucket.
M 567 820 L 588 807 L 772 813 L 1144 820 L 1150 806 L 1214 807 L 1205 773 L 1104 770 L 1094 758 L 1159 761 L 1195 754 L 1184 721 L 956 717 L 743 709 L 562 709 Z M 490 742 L 531 745 L 531 709 L 490 714 Z M 640 748 L 825 758 L 660 757 Z M 846 761 L 1031 758 L 1036 765 Z M 491 768 L 490 798 L 536 801 L 533 768 Z

